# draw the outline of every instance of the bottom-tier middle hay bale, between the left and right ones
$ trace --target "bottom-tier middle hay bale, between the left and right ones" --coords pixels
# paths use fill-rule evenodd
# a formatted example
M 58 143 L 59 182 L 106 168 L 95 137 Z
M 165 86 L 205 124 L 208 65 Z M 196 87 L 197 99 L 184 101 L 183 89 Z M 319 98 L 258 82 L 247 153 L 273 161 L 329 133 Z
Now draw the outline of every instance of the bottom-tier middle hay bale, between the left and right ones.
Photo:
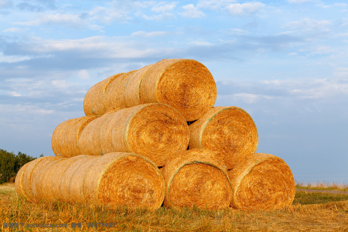
M 161 168 L 166 183 L 164 206 L 202 209 L 227 208 L 232 187 L 221 155 L 206 150 L 187 150 Z

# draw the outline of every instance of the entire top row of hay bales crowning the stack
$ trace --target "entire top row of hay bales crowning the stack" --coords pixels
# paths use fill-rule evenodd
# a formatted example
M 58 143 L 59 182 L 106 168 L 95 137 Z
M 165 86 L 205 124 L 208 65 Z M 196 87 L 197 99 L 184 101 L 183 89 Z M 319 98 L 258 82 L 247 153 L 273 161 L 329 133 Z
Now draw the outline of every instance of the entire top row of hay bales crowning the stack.
M 97 83 L 87 92 L 84 99 L 86 115 L 101 115 L 111 107 L 163 103 L 174 107 L 186 121 L 194 121 L 216 101 L 212 74 L 192 59 L 163 59 L 115 76 Z

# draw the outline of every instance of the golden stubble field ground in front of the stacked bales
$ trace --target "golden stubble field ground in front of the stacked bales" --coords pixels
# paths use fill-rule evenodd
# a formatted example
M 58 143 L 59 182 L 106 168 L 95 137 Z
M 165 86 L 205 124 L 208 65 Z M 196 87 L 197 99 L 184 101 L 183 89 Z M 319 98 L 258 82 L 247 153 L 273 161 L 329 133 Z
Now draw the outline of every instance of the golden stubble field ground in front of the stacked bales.
M 3 231 L 345 231 L 348 195 L 296 192 L 292 206 L 273 211 L 235 209 L 166 209 L 155 211 L 93 207 L 60 201 L 30 203 L 16 195 L 14 184 L 0 185 L 0 230 Z M 19 228 L 3 228 L 18 223 Z M 21 228 L 21 224 L 23 227 Z M 26 228 L 26 224 L 67 224 L 67 228 Z M 72 228 L 71 223 L 81 223 Z M 114 223 L 114 227 L 88 227 Z M 108 224 L 109 225 L 109 224 Z M 110 224 L 112 226 L 112 224 Z M 105 224 L 104 224 L 105 226 Z

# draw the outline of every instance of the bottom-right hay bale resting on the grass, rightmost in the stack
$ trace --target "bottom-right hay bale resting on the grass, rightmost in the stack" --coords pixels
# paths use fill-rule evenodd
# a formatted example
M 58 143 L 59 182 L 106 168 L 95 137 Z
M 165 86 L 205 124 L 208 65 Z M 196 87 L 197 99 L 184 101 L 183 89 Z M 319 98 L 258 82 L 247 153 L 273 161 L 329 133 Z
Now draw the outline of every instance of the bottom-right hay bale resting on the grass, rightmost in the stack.
M 233 188 L 232 206 L 243 210 L 272 210 L 291 205 L 295 181 L 284 160 L 255 153 L 228 171 Z

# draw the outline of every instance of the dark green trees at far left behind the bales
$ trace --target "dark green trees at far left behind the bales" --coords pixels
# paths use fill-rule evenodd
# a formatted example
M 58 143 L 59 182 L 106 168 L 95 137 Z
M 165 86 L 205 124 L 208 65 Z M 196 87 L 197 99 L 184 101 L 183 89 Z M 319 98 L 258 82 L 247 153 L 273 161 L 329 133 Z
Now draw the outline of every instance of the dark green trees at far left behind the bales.
M 40 157 L 44 156 L 43 154 Z M 22 152 L 15 155 L 13 152 L 0 149 L 0 184 L 14 181 L 19 169 L 35 157 L 31 157 Z

